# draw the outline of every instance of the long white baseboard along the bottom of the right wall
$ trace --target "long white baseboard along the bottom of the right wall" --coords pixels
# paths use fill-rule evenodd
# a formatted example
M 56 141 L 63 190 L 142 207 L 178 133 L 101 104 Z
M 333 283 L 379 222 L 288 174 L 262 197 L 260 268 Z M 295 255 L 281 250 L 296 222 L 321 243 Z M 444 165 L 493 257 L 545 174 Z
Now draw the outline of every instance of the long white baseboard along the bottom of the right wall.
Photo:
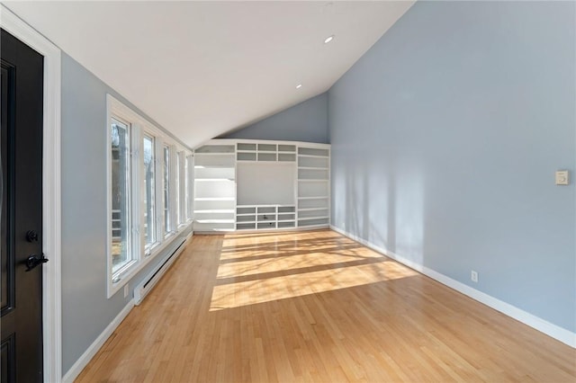
M 369 247 L 374 251 L 377 251 L 378 253 L 384 254 L 392 258 L 393 260 L 410 267 L 410 269 L 420 272 L 428 276 L 429 278 L 432 278 L 433 280 L 438 281 L 443 285 L 446 285 L 451 289 L 455 289 L 456 291 L 461 292 L 467 297 L 473 298 L 474 300 L 477 300 L 488 307 L 500 311 L 500 313 L 510 316 L 525 325 L 529 325 L 530 327 L 538 330 L 541 333 L 551 336 L 562 343 L 568 344 L 572 348 L 576 348 L 576 333 L 572 333 L 558 325 L 554 325 L 546 321 L 545 319 L 542 319 L 539 316 L 530 314 L 527 311 L 522 310 L 521 308 L 512 306 L 509 303 L 506 303 L 498 298 L 494 298 L 491 295 L 483 293 L 480 290 L 473 289 L 472 287 L 465 285 L 462 282 L 455 281 L 452 278 L 447 277 L 444 274 L 441 274 L 440 272 L 436 272 L 419 263 L 410 261 L 409 259 L 406 259 L 401 255 L 394 254 L 389 250 L 374 245 L 366 241 L 365 239 L 360 238 L 359 236 L 355 236 L 351 233 L 348 233 L 347 231 L 342 230 L 338 227 L 330 225 L 330 228 L 343 236 L 347 236 L 348 238 L 362 245 L 365 245 L 366 247 Z

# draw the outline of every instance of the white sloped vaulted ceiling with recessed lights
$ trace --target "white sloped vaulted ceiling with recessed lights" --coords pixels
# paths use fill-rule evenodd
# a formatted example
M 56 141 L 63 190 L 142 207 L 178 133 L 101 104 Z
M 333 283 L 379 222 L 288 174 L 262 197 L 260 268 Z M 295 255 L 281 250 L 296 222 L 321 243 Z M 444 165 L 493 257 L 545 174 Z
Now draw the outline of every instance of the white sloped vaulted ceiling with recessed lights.
M 4 4 L 195 147 L 326 92 L 413 1 Z

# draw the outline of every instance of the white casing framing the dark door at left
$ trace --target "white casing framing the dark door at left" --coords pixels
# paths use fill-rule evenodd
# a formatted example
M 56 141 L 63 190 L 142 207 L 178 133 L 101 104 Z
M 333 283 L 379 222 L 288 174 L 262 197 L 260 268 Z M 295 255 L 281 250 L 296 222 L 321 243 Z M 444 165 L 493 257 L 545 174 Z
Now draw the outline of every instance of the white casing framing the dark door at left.
M 62 379 L 61 352 L 61 200 L 60 200 L 60 49 L 0 4 L 0 24 L 44 56 L 42 168 L 42 316 L 44 381 Z

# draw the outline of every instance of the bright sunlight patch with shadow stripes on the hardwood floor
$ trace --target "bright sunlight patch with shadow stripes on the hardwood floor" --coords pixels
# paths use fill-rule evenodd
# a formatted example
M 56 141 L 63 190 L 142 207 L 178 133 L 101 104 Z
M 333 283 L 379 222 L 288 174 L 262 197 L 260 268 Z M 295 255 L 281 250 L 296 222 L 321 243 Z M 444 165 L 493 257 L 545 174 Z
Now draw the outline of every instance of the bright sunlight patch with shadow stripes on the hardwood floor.
M 328 232 L 329 234 L 329 232 Z M 329 240 L 329 241 L 328 241 Z M 311 242 L 312 241 L 312 242 Z M 312 246 L 311 246 L 312 244 Z M 282 236 L 224 241 L 211 311 L 418 275 L 349 239 L 316 236 L 299 245 Z

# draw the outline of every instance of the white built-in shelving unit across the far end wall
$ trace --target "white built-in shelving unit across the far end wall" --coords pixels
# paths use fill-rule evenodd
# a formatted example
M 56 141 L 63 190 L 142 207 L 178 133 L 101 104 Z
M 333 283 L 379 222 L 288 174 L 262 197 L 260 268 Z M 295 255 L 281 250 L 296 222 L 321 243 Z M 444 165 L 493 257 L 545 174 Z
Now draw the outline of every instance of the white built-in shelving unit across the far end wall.
M 195 150 L 194 230 L 329 225 L 327 144 L 214 139 Z

